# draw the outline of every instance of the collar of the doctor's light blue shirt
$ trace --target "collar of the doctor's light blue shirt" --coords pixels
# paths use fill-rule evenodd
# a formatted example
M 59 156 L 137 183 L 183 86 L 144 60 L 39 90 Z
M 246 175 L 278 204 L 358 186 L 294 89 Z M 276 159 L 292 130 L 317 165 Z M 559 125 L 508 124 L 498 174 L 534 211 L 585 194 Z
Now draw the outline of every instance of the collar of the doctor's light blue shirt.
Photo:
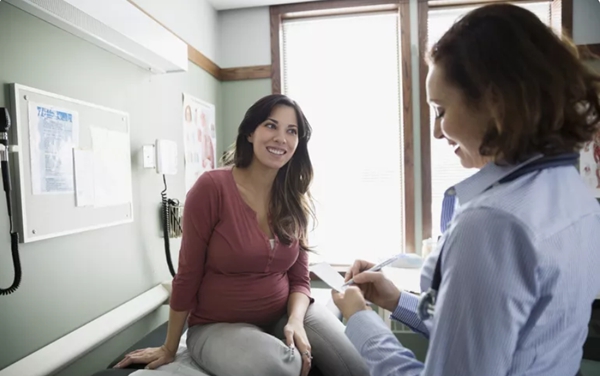
M 520 164 L 510 166 L 500 166 L 494 162 L 489 162 L 474 175 L 450 187 L 446 194 L 456 194 L 460 205 L 464 205 L 514 171 L 541 157 L 542 154 L 536 154 Z

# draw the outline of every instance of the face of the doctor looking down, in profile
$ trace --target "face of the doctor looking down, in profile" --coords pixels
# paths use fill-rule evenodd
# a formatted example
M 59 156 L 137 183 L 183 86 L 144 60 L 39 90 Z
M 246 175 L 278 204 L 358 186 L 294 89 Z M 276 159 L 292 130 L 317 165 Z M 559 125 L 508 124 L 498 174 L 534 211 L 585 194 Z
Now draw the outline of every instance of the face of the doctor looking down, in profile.
M 479 148 L 491 116 L 466 101 L 463 93 L 445 79 L 442 66 L 431 64 L 427 75 L 427 102 L 435 115 L 433 136 L 448 142 L 465 168 L 481 168 L 489 158 Z

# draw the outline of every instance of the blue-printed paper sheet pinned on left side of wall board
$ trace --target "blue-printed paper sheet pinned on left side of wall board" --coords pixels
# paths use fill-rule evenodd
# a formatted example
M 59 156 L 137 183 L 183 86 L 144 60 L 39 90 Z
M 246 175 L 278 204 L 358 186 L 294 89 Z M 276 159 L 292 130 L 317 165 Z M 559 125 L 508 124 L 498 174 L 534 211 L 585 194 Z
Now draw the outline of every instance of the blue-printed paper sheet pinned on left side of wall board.
M 28 112 L 33 194 L 73 193 L 79 114 L 34 102 L 29 102 Z

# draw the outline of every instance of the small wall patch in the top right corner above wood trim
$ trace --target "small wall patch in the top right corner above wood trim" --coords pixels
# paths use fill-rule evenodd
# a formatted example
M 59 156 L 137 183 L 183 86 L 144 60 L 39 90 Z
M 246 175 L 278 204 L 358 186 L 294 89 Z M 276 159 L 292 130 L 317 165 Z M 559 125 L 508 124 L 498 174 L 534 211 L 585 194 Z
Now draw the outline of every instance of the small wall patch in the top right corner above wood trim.
M 573 41 L 600 43 L 600 1 L 573 0 Z

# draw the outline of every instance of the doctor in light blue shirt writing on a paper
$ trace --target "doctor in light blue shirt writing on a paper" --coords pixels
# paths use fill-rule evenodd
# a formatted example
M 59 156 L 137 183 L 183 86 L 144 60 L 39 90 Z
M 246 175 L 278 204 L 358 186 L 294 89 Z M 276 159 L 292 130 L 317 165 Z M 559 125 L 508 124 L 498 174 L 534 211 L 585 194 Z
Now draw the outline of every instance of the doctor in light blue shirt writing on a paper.
M 573 165 L 599 131 L 600 76 L 508 4 L 468 13 L 428 63 L 434 135 L 480 171 L 446 192 L 420 301 L 354 264 L 358 287 L 333 293 L 346 334 L 377 376 L 575 375 L 600 291 L 600 205 Z M 430 337 L 424 364 L 365 299 Z

